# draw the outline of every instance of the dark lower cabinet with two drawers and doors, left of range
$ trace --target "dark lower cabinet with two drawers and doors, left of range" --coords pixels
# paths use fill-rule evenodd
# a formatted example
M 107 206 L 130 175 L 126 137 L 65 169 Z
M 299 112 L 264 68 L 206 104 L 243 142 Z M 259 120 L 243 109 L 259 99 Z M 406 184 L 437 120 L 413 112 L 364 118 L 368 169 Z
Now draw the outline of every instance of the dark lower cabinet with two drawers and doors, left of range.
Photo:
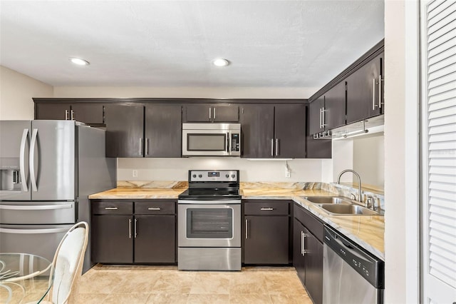
M 91 201 L 93 263 L 176 263 L 175 201 Z

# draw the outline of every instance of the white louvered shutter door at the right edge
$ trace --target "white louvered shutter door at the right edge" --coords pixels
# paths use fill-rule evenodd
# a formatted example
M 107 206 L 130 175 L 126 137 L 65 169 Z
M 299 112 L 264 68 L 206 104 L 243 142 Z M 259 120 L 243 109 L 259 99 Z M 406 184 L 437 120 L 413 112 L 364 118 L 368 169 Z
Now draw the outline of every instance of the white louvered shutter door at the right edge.
M 442 303 L 456 301 L 456 1 L 422 8 L 423 288 Z

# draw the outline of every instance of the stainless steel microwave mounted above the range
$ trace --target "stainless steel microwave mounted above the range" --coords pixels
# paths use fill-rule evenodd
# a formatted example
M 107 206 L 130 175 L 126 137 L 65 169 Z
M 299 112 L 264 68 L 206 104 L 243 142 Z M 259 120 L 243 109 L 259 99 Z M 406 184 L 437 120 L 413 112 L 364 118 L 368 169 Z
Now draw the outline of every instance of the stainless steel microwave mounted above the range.
M 182 156 L 241 156 L 241 124 L 182 123 Z

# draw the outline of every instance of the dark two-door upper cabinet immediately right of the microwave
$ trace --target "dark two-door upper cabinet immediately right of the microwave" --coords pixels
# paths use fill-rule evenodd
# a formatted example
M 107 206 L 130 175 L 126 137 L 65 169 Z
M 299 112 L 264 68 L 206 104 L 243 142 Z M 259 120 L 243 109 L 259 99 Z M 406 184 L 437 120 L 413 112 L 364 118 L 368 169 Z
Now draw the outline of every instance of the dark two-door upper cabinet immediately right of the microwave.
M 305 158 L 306 106 L 242 105 L 242 157 Z

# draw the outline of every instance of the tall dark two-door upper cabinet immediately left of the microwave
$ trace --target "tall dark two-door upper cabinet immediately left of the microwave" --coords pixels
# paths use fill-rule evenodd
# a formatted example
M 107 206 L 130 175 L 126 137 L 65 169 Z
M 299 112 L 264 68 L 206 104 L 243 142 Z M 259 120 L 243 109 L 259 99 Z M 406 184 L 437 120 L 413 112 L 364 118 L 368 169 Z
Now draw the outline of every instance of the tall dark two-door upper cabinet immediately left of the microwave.
M 106 156 L 180 157 L 181 117 L 180 105 L 106 106 Z

